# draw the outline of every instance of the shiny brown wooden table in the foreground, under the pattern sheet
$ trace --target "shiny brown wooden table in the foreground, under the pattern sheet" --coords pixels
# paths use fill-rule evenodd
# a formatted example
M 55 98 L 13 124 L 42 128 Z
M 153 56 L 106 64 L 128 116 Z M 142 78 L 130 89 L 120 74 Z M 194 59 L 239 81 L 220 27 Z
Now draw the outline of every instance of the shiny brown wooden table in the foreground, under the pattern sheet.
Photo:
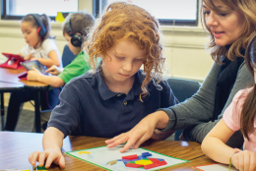
M 63 143 L 63 151 L 71 151 L 92 148 L 105 145 L 103 138 L 91 137 L 67 137 Z M 196 170 L 192 166 L 215 163 L 206 157 L 198 142 L 174 142 L 174 141 L 149 141 L 142 147 L 160 152 L 165 155 L 190 160 L 188 163 L 179 164 L 162 170 Z M 0 132 L 0 168 L 1 169 L 32 169 L 29 155 L 33 151 L 42 150 L 42 134 Z M 93 164 L 79 160 L 64 154 L 66 167 L 63 170 L 104 170 Z M 60 170 L 52 165 L 50 171 Z

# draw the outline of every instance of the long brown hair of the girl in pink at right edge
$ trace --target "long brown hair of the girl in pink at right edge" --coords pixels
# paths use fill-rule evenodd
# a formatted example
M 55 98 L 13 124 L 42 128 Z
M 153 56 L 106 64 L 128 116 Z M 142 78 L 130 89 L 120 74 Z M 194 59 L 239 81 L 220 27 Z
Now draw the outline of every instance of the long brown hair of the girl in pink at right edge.
M 254 34 L 246 49 L 245 63 L 252 76 L 254 76 L 254 70 L 256 69 L 256 34 Z M 248 134 L 254 133 L 255 116 L 256 85 L 254 84 L 252 85 L 252 89 L 250 90 L 247 98 L 244 101 L 240 119 L 241 132 L 248 141 L 250 141 Z

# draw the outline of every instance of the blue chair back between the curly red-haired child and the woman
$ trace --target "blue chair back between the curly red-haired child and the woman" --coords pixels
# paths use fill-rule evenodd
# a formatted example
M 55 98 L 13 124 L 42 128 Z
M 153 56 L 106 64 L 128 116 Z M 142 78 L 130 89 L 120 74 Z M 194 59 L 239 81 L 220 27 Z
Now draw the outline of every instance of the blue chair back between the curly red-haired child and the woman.
M 187 98 L 190 98 L 194 93 L 197 92 L 201 86 L 199 82 L 169 78 L 167 83 L 170 86 L 172 92 L 179 102 L 185 101 Z M 182 134 L 183 130 L 178 130 L 174 134 L 174 141 L 180 141 L 179 136 Z

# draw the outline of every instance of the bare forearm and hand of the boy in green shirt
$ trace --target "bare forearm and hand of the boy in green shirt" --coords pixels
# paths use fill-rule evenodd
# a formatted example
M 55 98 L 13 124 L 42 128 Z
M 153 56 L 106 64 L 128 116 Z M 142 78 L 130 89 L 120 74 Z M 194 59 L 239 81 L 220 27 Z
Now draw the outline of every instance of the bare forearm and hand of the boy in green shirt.
M 42 75 L 39 71 L 37 71 L 34 68 L 28 72 L 27 79 L 28 81 L 36 81 L 36 82 L 51 85 L 54 87 L 60 87 L 65 85 L 65 82 L 58 76 Z

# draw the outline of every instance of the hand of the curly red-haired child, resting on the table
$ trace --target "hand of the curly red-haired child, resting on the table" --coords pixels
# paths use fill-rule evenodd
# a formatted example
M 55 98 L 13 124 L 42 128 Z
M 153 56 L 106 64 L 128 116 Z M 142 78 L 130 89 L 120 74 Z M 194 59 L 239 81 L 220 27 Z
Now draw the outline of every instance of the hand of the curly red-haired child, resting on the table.
M 65 168 L 65 159 L 60 149 L 47 149 L 42 152 L 34 151 L 30 154 L 29 161 L 32 166 L 38 161 L 40 167 L 45 163 L 45 168 L 49 168 L 51 163 L 54 162 L 61 168 Z

